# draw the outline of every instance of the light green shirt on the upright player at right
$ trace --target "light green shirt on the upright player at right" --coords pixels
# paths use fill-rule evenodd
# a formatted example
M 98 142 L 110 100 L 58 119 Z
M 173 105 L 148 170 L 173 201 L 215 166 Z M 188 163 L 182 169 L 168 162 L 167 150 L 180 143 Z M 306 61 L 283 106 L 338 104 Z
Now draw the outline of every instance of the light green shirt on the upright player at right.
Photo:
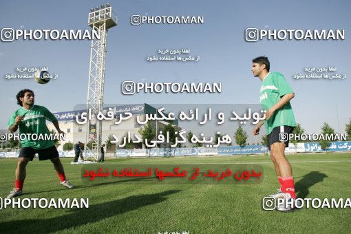
M 261 89 L 259 92 L 259 100 L 263 110 L 268 110 L 273 107 L 282 96 L 285 94 L 294 93 L 286 82 L 286 79 L 279 72 L 270 72 L 262 81 Z M 295 117 L 292 112 L 290 102 L 286 103 L 280 109 L 277 109 L 268 121 L 264 121 L 267 135 L 278 126 L 287 125 L 295 127 Z

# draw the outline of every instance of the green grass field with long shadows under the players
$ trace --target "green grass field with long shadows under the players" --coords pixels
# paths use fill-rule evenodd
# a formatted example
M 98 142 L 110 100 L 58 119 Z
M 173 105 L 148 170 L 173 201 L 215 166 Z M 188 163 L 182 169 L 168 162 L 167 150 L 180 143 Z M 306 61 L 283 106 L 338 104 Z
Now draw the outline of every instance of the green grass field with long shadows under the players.
M 133 158 L 106 164 L 255 163 L 264 168 L 261 184 L 130 184 L 91 186 L 82 165 L 62 159 L 75 189 L 65 189 L 50 161 L 27 167 L 21 198 L 89 198 L 88 209 L 2 209 L 0 233 L 351 233 L 351 209 L 264 211 L 262 198 L 276 191 L 268 156 Z M 351 153 L 288 156 L 299 198 L 351 198 Z M 0 160 L 0 197 L 14 187 L 15 159 Z

